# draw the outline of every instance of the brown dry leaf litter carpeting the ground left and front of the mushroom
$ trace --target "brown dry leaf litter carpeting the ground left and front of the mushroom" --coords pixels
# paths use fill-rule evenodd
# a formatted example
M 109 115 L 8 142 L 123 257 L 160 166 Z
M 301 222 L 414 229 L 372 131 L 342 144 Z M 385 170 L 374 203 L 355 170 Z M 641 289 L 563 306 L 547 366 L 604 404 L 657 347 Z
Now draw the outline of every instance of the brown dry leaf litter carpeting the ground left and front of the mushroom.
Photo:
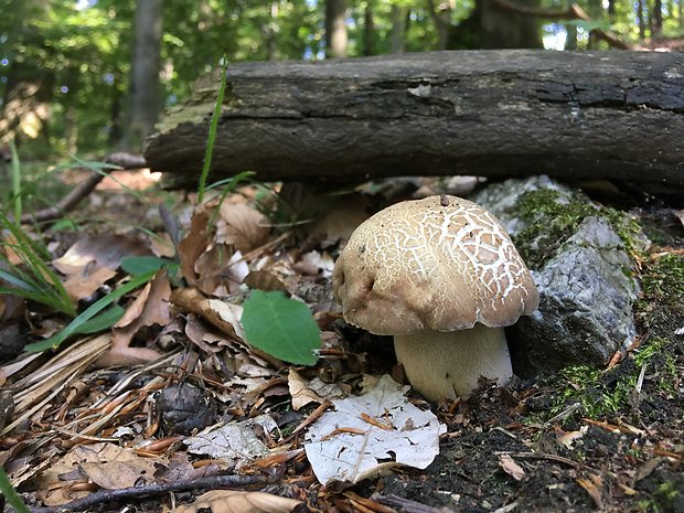
M 31 505 L 235 474 L 263 481 L 237 484 L 239 492 L 179 498 L 186 511 L 214 512 L 302 504 L 318 511 L 412 511 L 416 504 L 421 511 L 624 511 L 639 501 L 676 511 L 684 440 L 682 408 L 673 404 L 682 398 L 681 381 L 663 391 L 646 373 L 637 414 L 600 421 L 583 417 L 581 408 L 552 415 L 554 382 L 483 383 L 468 400 L 431 408 L 388 377 L 371 385 L 368 376 L 386 373 L 400 380 L 400 368 L 386 340 L 340 321 L 329 284 L 339 241 L 359 224 L 357 206 L 365 211 L 367 199 L 351 200 L 346 213 L 344 200 L 335 200 L 336 213 L 321 216 L 325 222 L 312 225 L 308 238 L 306 224 L 298 235 L 274 231 L 245 196 L 254 194 L 195 210 L 178 243 L 180 271 L 159 272 L 124 298 L 126 314 L 111 330 L 76 336 L 56 354 L 19 355 L 0 368 L 14 406 L 0 459 Z M 163 224 L 169 221 L 157 229 Z M 65 282 L 85 277 L 82 289 L 70 289 L 74 297 L 88 300 L 116 287 L 125 256 L 174 254 L 161 232 L 147 241 L 126 237 L 138 243 L 95 244 L 89 260 L 65 259 L 72 266 L 62 269 L 71 271 Z M 316 313 L 321 348 L 314 366 L 287 364 L 247 343 L 242 316 L 250 288 L 280 290 Z M 8 297 L 0 299 L 6 306 Z M 29 316 L 33 333 L 54 317 Z M 135 365 L 107 361 L 117 350 L 150 357 Z M 547 425 L 534 416 L 557 420 Z M 161 496 L 139 504 L 158 511 L 158 500 L 172 505 Z

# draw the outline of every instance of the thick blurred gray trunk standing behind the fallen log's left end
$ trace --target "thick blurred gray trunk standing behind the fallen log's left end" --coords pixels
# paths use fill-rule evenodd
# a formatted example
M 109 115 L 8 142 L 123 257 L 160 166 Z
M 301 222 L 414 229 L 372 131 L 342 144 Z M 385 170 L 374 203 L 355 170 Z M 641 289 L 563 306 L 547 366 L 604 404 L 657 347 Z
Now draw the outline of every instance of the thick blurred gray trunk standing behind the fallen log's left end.
M 145 138 L 154 130 L 161 109 L 161 14 L 162 0 L 136 3 L 129 111 L 122 145 L 130 151 L 139 151 Z

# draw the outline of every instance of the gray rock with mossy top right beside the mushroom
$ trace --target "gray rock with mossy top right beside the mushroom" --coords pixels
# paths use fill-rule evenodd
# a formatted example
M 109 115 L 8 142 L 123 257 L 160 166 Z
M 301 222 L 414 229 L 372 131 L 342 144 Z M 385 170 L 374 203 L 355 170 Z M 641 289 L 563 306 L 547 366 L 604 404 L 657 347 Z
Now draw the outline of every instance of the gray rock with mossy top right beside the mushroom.
M 553 196 L 560 204 L 586 202 L 588 215 L 539 268 L 532 269 L 539 289 L 539 309 L 521 318 L 510 330 L 510 339 L 537 371 L 569 364 L 602 366 L 617 350 L 634 341 L 632 306 L 639 288 L 634 263 L 601 209 L 547 177 L 507 180 L 485 189 L 473 201 L 490 209 L 515 239 L 526 227 L 521 215 L 524 195 L 539 189 L 555 191 Z M 554 220 L 535 222 L 552 226 Z M 537 239 L 526 241 L 526 249 L 534 253 L 545 244 L 545 236 L 548 234 L 542 231 Z

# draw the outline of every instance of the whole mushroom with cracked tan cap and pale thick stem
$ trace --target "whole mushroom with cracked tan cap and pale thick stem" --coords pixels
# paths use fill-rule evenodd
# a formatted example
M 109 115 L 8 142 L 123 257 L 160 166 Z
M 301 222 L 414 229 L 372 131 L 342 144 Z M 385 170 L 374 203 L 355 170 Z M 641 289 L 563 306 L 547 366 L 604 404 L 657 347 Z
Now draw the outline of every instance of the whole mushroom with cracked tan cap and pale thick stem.
M 394 335 L 424 397 L 468 396 L 512 376 L 503 327 L 537 309 L 525 263 L 499 220 L 449 195 L 394 204 L 361 224 L 332 275 L 346 322 Z

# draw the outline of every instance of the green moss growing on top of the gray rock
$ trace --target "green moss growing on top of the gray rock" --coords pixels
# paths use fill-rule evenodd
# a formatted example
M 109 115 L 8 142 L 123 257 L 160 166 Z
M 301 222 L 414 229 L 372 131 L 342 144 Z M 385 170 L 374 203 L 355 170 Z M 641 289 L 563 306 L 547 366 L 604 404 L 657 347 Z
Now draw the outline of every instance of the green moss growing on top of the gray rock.
M 543 267 L 588 216 L 606 220 L 628 253 L 641 253 L 642 229 L 635 218 L 614 209 L 598 209 L 578 195 L 554 189 L 530 191 L 521 196 L 519 212 L 525 227 L 513 242 L 534 269 Z M 534 241 L 534 245 L 530 241 Z

